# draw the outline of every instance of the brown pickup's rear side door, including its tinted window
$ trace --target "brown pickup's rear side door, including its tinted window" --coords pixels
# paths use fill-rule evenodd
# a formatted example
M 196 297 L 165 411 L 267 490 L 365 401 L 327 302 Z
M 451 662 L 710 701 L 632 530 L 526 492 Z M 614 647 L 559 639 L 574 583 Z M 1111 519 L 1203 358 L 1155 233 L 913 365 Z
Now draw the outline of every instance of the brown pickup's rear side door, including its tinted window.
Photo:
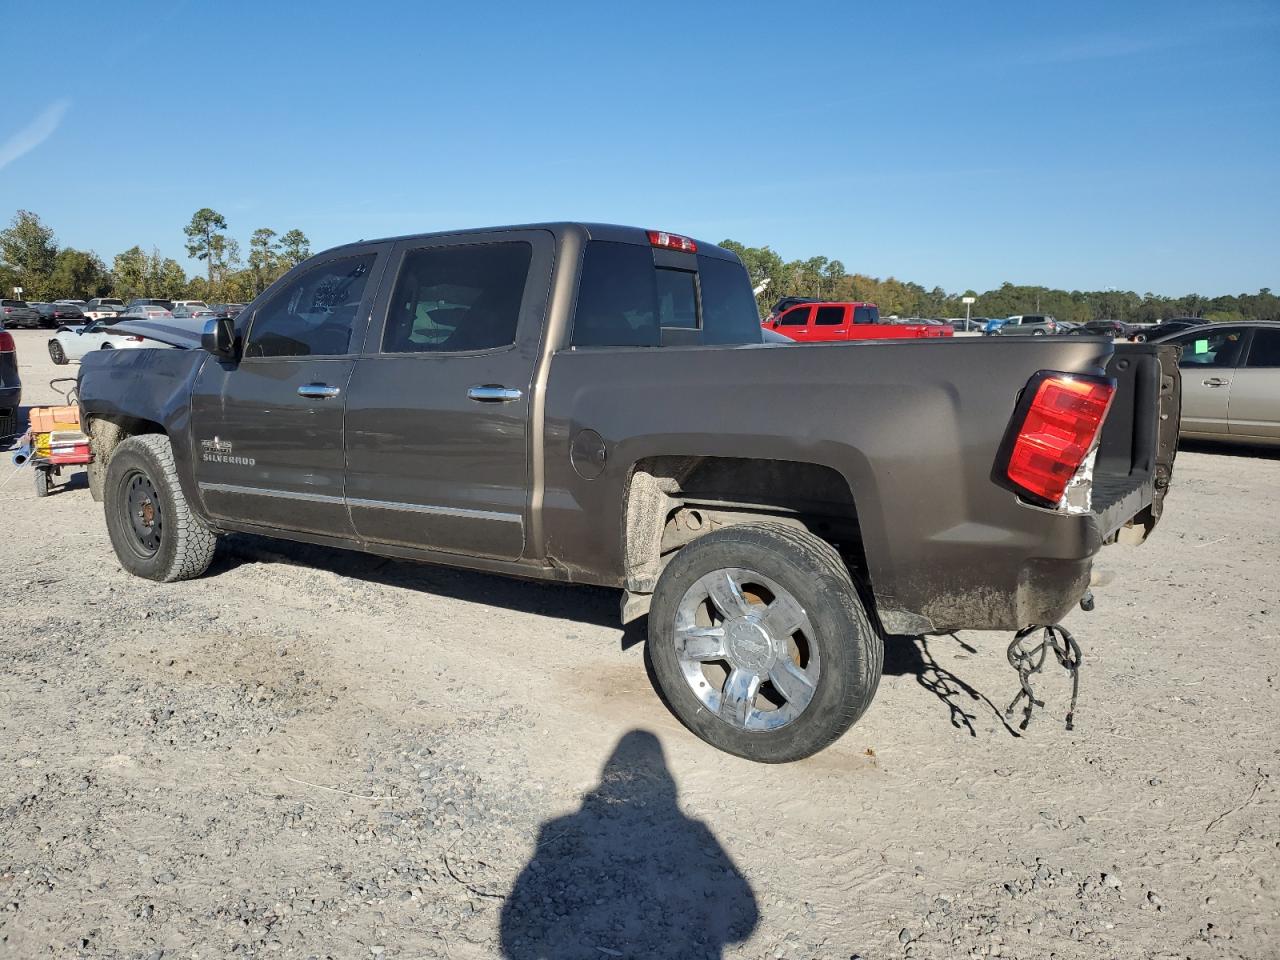
M 361 539 L 521 556 L 553 256 L 547 230 L 397 243 L 347 402 L 347 502 Z

